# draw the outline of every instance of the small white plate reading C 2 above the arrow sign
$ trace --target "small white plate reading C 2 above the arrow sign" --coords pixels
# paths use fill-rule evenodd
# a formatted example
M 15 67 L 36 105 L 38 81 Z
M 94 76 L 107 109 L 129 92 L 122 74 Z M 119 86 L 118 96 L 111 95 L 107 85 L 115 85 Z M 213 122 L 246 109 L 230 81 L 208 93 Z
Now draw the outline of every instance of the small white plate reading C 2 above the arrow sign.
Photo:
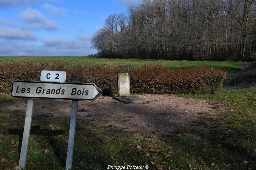
M 66 72 L 65 71 L 41 71 L 40 80 L 42 82 L 65 82 Z

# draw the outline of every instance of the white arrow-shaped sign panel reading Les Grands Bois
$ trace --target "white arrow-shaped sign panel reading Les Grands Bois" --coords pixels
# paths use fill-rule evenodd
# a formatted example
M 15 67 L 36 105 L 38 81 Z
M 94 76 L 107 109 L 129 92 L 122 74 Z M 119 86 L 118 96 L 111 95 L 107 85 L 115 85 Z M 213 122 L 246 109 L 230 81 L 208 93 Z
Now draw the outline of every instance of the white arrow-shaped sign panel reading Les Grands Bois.
M 13 98 L 94 101 L 101 95 L 101 89 L 99 89 L 93 83 L 55 83 L 32 81 L 14 81 L 12 83 Z

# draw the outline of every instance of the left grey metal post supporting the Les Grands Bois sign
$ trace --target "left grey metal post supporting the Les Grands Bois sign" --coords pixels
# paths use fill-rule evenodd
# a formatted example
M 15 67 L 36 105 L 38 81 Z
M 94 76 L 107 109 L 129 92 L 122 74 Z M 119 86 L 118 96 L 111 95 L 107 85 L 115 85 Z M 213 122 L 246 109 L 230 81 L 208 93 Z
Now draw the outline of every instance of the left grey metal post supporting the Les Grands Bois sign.
M 26 166 L 26 160 L 28 155 L 28 143 L 29 143 L 31 121 L 32 121 L 32 114 L 33 114 L 33 103 L 34 103 L 34 99 L 28 99 L 27 112 L 26 112 L 25 125 L 24 125 L 23 138 L 22 138 L 22 147 L 20 150 L 20 157 L 19 157 L 19 166 L 23 169 Z

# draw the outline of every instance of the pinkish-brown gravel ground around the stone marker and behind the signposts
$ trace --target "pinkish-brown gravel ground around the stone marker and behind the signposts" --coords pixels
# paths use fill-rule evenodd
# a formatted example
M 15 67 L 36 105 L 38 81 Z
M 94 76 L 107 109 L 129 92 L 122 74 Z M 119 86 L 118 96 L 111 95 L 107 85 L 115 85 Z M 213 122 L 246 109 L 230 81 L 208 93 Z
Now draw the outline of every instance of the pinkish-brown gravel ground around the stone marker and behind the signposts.
M 225 109 L 223 104 L 208 100 L 188 99 L 165 95 L 138 95 L 150 102 L 125 104 L 112 97 L 101 96 L 94 102 L 79 101 L 77 121 L 89 125 L 122 128 L 146 136 L 162 136 L 177 131 L 202 129 L 197 120 Z M 42 100 L 34 102 L 35 115 L 67 116 L 71 114 L 72 101 Z M 4 109 L 26 113 L 26 101 L 11 106 L 2 104 Z

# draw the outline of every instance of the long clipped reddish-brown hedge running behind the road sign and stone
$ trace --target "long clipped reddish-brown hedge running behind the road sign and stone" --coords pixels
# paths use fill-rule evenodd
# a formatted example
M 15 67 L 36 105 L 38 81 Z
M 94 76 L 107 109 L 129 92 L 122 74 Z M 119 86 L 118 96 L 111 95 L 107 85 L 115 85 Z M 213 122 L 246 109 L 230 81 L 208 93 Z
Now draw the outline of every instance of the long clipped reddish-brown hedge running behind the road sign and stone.
M 133 68 L 129 65 L 108 67 L 67 66 L 62 63 L 7 63 L 0 65 L 0 92 L 10 92 L 14 80 L 40 81 L 42 70 L 67 72 L 67 82 L 95 83 L 104 95 L 117 95 L 117 75 L 130 74 L 132 93 L 202 94 L 214 93 L 222 87 L 226 73 L 217 69 L 170 69 L 159 65 Z

